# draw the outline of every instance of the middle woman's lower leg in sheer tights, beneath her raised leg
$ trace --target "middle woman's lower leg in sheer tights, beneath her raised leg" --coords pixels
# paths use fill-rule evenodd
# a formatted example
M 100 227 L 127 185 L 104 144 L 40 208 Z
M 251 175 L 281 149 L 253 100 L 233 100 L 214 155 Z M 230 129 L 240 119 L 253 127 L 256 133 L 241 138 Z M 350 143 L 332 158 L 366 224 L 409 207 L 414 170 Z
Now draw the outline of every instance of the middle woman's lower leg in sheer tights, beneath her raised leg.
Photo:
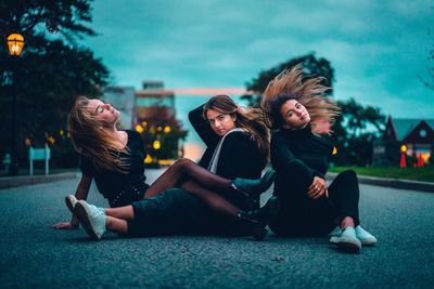
M 191 193 L 192 195 L 199 197 L 205 203 L 207 203 L 214 211 L 222 215 L 229 216 L 230 219 L 238 218 L 240 209 L 234 207 L 231 202 L 222 198 L 221 196 L 208 191 L 201 184 L 194 181 L 183 182 L 180 188 Z

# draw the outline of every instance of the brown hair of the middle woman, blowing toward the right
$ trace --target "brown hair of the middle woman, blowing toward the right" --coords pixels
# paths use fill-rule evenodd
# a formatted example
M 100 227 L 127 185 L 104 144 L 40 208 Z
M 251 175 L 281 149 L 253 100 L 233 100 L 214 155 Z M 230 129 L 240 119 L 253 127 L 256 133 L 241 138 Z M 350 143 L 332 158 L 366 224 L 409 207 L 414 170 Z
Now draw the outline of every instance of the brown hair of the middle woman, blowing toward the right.
M 224 115 L 235 116 L 235 127 L 246 130 L 264 156 L 269 156 L 270 133 L 265 123 L 264 114 L 258 108 L 244 108 L 238 106 L 228 95 L 216 95 L 203 107 L 203 117 L 214 109 Z

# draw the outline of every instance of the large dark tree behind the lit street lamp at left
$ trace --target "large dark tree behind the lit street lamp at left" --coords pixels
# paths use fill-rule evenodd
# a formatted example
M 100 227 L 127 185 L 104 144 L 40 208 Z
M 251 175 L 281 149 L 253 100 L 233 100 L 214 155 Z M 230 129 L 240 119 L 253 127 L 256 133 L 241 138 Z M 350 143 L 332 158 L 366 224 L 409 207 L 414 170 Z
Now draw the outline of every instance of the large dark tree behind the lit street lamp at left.
M 108 70 L 78 40 L 94 36 L 91 0 L 0 0 L 0 32 L 20 32 L 25 49 L 20 60 L 8 57 L 0 45 L 0 133 L 7 135 L 12 119 L 12 89 L 18 96 L 18 145 L 22 161 L 27 145 L 53 146 L 54 163 L 72 150 L 66 116 L 78 95 L 98 96 L 107 84 Z M 14 61 L 15 68 L 12 69 Z M 10 144 L 0 144 L 0 156 Z M 58 152 L 59 150 L 59 152 Z M 66 150 L 66 152 L 65 152 Z M 59 153 L 59 154 L 56 154 Z

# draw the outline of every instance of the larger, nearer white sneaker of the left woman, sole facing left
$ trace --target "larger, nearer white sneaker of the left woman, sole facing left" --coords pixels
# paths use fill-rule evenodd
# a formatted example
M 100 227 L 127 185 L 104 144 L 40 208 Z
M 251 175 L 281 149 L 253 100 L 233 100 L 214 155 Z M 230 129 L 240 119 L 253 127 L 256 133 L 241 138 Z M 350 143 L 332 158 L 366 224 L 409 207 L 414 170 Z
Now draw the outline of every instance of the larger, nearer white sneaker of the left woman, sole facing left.
M 107 219 L 104 208 L 89 205 L 86 200 L 78 200 L 74 212 L 88 235 L 94 240 L 101 239 L 105 232 L 105 221 Z

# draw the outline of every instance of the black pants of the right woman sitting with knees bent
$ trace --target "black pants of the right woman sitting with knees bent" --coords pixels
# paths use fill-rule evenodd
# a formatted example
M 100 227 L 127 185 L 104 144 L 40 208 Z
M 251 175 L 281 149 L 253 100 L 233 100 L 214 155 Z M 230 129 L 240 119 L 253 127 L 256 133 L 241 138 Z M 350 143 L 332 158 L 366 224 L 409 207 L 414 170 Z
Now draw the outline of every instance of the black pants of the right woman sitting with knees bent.
M 345 216 L 359 224 L 359 185 L 354 171 L 343 171 L 329 186 L 329 198 L 307 196 L 311 172 L 297 161 L 277 172 L 275 195 L 282 201 L 279 218 L 270 228 L 280 236 L 321 236 L 330 233 Z

